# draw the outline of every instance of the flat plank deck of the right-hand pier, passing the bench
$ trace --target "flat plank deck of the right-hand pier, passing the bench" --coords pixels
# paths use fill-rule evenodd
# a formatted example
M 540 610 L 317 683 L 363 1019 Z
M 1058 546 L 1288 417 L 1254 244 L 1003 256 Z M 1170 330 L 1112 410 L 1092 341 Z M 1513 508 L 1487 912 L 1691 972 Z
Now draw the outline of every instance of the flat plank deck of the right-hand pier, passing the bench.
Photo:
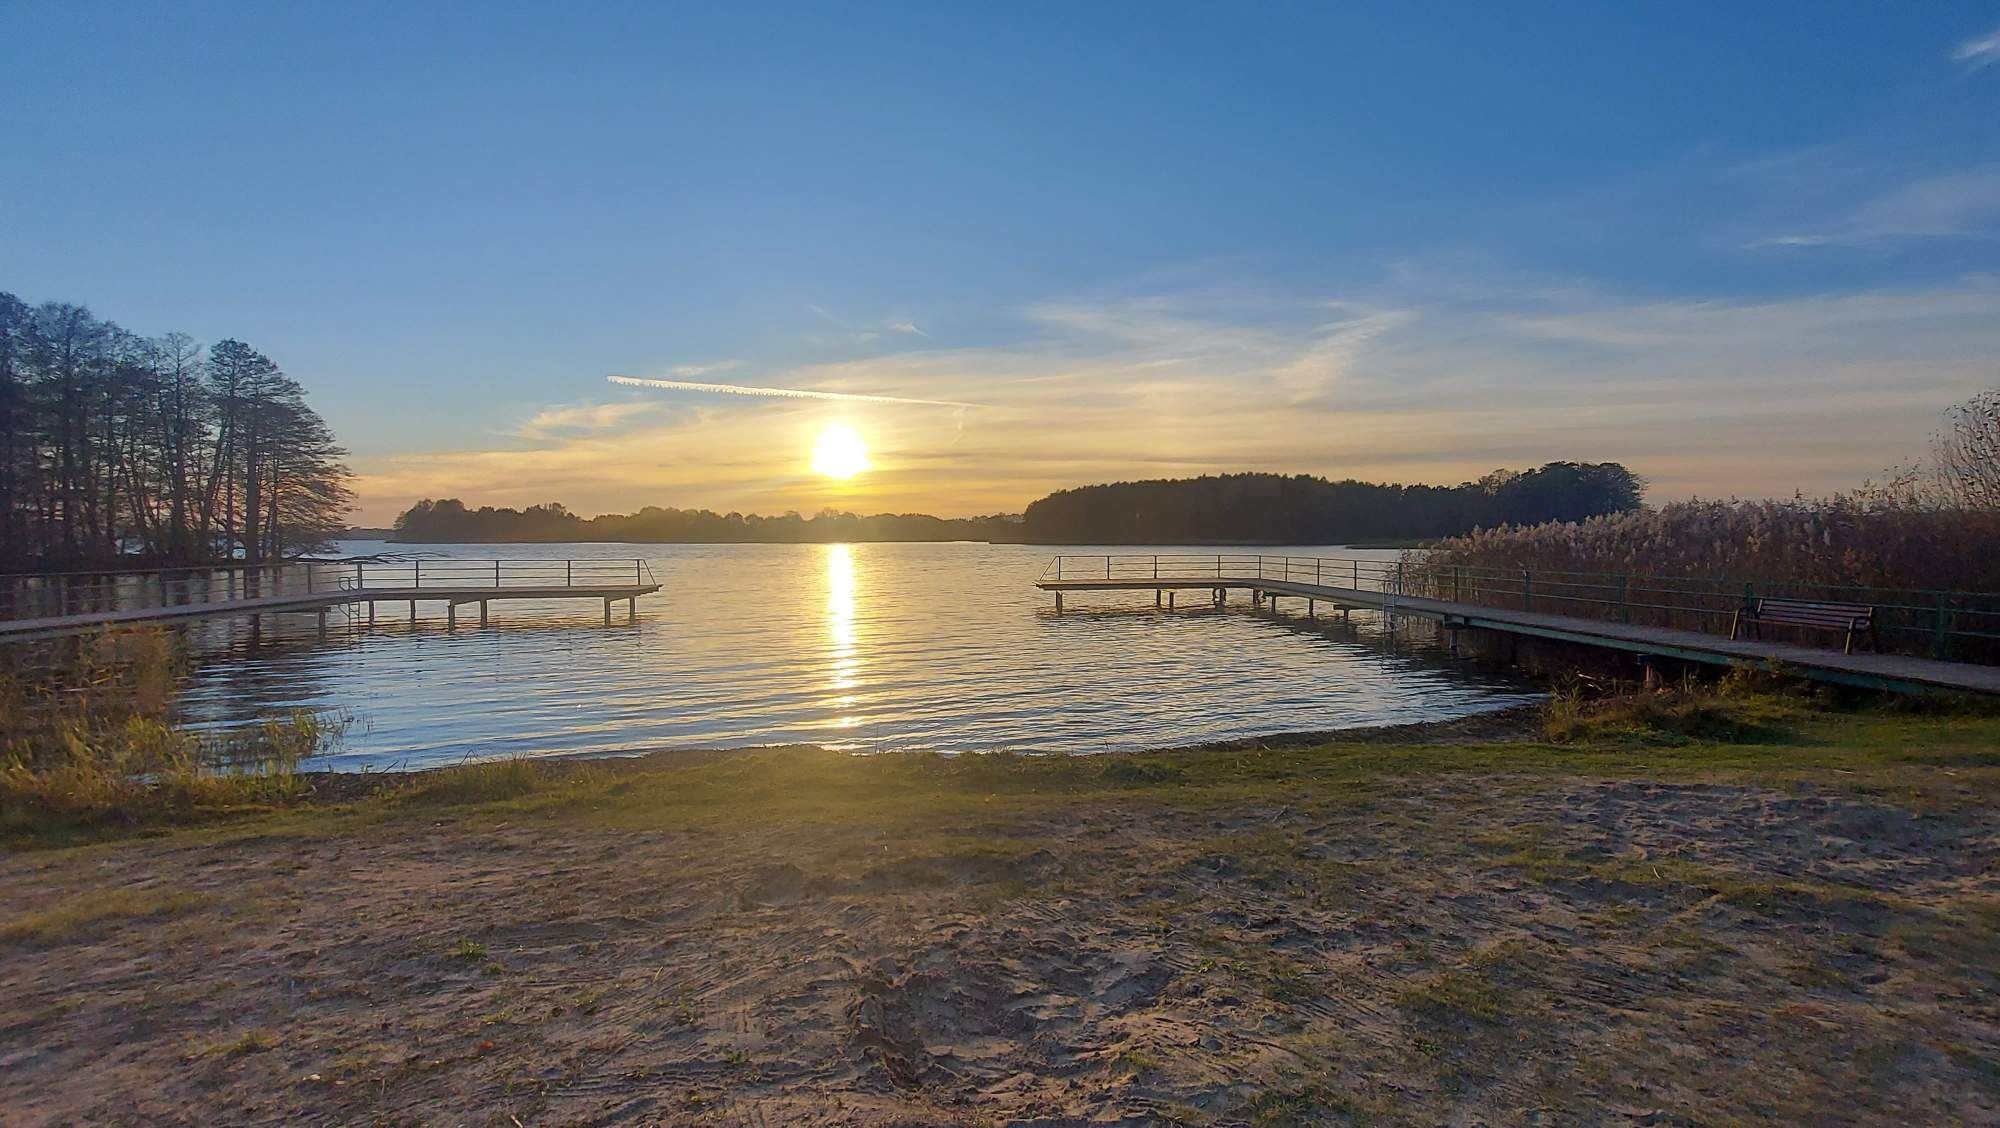
M 1862 686 L 1870 690 L 1956 690 L 2000 694 L 2000 666 L 1938 662 L 1932 658 L 1908 658 L 1902 654 L 1842 654 L 1838 650 L 1820 650 L 1814 646 L 1794 646 L 1786 642 L 1762 642 L 1752 638 L 1730 640 L 1716 634 L 1702 634 L 1698 630 L 1630 626 L 1596 618 L 1428 600 L 1334 584 L 1302 584 L 1260 576 L 1206 576 L 1108 580 L 1044 578 L 1038 580 L 1036 586 L 1044 592 L 1056 594 L 1056 610 L 1062 610 L 1064 592 L 1248 590 L 1254 604 L 1262 604 L 1266 598 L 1276 600 L 1278 596 L 1290 596 L 1338 608 L 1374 610 L 1390 616 L 1416 616 L 1438 622 L 1446 630 L 1496 630 L 1502 634 L 1552 638 L 1582 646 L 1602 646 L 1632 654 L 1656 654 L 1662 658 L 1708 662 L 1716 666 L 1746 666 L 1758 670 L 1784 668 L 1786 672 L 1818 682 Z

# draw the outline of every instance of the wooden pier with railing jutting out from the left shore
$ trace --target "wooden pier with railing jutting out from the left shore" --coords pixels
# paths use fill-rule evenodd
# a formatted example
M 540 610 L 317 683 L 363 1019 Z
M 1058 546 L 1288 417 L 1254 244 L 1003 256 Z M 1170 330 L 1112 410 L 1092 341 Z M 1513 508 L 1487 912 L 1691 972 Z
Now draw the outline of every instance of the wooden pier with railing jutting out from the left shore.
M 488 606 L 498 600 L 602 600 L 604 626 L 612 624 L 612 604 L 626 604 L 626 620 L 638 618 L 638 598 L 660 590 L 644 560 L 416 560 L 416 562 L 290 562 L 260 568 L 104 572 L 104 584 L 58 586 L 58 602 L 132 602 L 104 610 L 66 610 L 0 618 L 0 642 L 30 642 L 88 634 L 116 626 L 182 624 L 212 618 L 248 618 L 252 628 L 270 614 L 318 616 L 326 636 L 326 616 L 352 608 L 376 622 L 378 604 L 408 604 L 416 622 L 418 604 L 444 604 L 446 628 L 458 626 L 458 608 L 478 604 L 480 626 L 488 626 Z M 218 580 L 218 576 L 226 576 Z M 36 580 L 58 580 L 38 576 Z M 68 578 L 62 578 L 68 580 Z M 132 596 L 130 592 L 138 592 Z M 6 610 L 20 610 L 14 600 Z

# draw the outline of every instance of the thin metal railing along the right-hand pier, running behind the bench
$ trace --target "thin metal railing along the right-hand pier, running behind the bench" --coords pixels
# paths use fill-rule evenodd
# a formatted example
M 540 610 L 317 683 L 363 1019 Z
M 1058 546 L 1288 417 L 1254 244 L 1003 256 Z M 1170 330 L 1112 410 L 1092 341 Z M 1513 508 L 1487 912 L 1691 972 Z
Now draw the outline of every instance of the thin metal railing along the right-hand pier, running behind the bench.
M 1824 600 L 1876 608 L 1876 634 L 1886 652 L 2000 662 L 2000 592 L 1228 552 L 1056 556 L 1042 578 L 1282 580 L 1712 634 L 1726 634 L 1730 618 L 1758 598 Z

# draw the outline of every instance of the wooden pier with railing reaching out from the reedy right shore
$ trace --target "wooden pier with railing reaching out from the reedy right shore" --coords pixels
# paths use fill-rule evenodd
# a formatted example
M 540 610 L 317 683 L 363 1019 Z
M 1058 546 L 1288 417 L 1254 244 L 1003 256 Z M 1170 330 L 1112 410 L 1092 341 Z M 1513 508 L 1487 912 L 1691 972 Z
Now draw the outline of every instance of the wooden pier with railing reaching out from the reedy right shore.
M 1446 576 L 1448 574 L 1442 570 L 1424 574 L 1422 586 L 1440 588 Z M 1514 580 L 1514 576 L 1526 576 L 1526 580 Z M 1660 602 L 1626 602 L 1612 608 L 1610 600 L 1598 598 L 1596 592 L 1596 588 L 1604 588 L 1606 592 L 1612 590 L 1608 580 L 1586 584 L 1564 580 L 1560 576 L 1578 574 L 1542 574 L 1542 598 L 1546 602 L 1586 606 L 1602 604 L 1606 610 L 1622 610 L 1626 616 L 1630 616 L 1632 608 L 1726 614 L 1706 606 L 1680 608 Z M 1472 582 L 1464 582 L 1464 570 L 1450 578 L 1454 580 L 1454 586 L 1460 586 L 1460 596 L 1490 596 L 1498 590 L 1490 584 L 1482 584 L 1482 576 L 1472 576 Z M 1414 580 L 1416 578 L 1396 562 L 1334 556 L 1060 556 L 1050 564 L 1048 572 L 1036 580 L 1036 586 L 1056 596 L 1058 612 L 1064 610 L 1066 592 L 1154 592 L 1154 606 L 1172 610 L 1174 596 L 1180 592 L 1202 592 L 1208 596 L 1208 602 L 1222 606 L 1228 592 L 1234 590 L 1250 592 L 1254 608 L 1262 608 L 1268 602 L 1268 606 L 1276 610 L 1280 598 L 1298 600 L 1304 604 L 1302 610 L 1308 618 L 1318 614 L 1320 604 L 1326 604 L 1340 614 L 1366 610 L 1378 612 L 1390 620 L 1400 616 L 1430 620 L 1446 632 L 1490 630 L 1528 638 L 1550 638 L 1580 646 L 1624 650 L 1638 656 L 1660 656 L 1684 662 L 1744 666 L 1756 670 L 1784 670 L 1820 682 L 1872 690 L 1910 694 L 1940 690 L 2000 694 L 2000 666 L 1950 662 L 1908 654 L 1842 654 L 1840 650 L 1808 644 L 1726 638 L 1702 630 L 1646 626 L 1620 622 L 1618 618 L 1550 614 L 1534 610 L 1532 600 L 1536 578 L 1532 574 L 1508 576 L 1510 586 L 1502 594 L 1518 598 L 1526 604 L 1518 608 L 1492 606 L 1492 602 L 1484 600 L 1476 602 L 1466 598 L 1436 598 L 1432 594 L 1404 594 L 1418 588 L 1418 582 Z M 1616 590 L 1626 600 L 1632 600 L 1634 594 L 1646 596 L 1646 592 L 1652 590 L 1674 590 L 1684 596 L 1692 592 L 1692 588 L 1634 588 L 1630 578 L 1620 580 L 1622 582 Z M 1592 592 L 1586 594 L 1582 588 L 1590 588 Z M 1734 584 L 1732 590 L 1740 590 L 1740 584 Z M 1966 600 L 1960 600 L 1960 604 L 1964 602 Z M 2000 600 L 1996 600 L 1996 604 L 2000 604 Z M 1938 606 L 1944 608 L 1946 604 L 1938 602 Z M 1968 630 L 1962 626 L 1946 628 L 1942 626 L 1942 614 L 1944 612 L 1940 612 L 1940 626 L 1936 628 L 1940 638 L 1946 636 L 1946 630 L 1982 640 L 2000 638 L 2000 634 L 1986 630 Z M 2000 616 L 2000 606 L 1996 606 L 1996 610 L 1952 608 L 1950 614 L 1956 618 L 1986 614 Z

